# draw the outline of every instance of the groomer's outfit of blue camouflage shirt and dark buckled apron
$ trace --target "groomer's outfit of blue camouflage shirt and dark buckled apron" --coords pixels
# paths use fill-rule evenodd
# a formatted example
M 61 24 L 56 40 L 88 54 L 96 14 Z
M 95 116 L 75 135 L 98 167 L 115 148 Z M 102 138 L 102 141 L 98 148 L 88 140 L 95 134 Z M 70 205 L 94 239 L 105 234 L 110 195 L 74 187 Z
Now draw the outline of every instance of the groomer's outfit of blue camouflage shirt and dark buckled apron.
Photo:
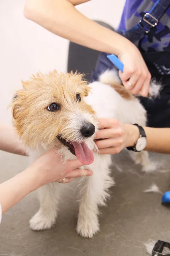
M 138 47 L 152 78 L 163 84 L 159 98 L 139 97 L 147 110 L 147 125 L 170 127 L 170 0 L 126 0 L 117 32 Z M 91 81 L 116 68 L 107 55 L 99 55 Z

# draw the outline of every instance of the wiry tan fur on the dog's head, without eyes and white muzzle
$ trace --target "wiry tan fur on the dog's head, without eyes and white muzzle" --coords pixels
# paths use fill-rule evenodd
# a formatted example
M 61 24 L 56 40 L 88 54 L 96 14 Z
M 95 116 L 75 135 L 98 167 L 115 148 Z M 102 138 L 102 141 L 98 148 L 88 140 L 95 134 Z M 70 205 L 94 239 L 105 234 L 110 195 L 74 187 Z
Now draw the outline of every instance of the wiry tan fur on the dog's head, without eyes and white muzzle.
M 95 114 L 83 101 L 90 87 L 82 74 L 71 72 L 65 75 L 54 70 L 47 75 L 37 73 L 22 84 L 23 89 L 17 90 L 17 98 L 12 103 L 13 123 L 21 140 L 28 146 L 50 145 L 57 135 L 75 140 L 67 129 L 71 114 L 76 111 Z M 78 93 L 81 102 L 76 101 Z M 60 109 L 48 111 L 48 106 L 54 102 L 60 105 Z

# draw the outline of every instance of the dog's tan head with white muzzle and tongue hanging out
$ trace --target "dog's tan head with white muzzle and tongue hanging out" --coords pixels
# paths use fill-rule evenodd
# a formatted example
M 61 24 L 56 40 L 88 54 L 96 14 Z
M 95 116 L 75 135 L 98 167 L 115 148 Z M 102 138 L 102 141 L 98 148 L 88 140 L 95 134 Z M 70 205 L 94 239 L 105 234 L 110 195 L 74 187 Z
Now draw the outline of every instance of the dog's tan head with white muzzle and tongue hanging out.
M 14 126 L 23 142 L 37 148 L 69 149 L 83 164 L 93 161 L 85 140 L 94 136 L 95 113 L 84 97 L 90 88 L 82 74 L 38 73 L 22 82 L 12 103 Z

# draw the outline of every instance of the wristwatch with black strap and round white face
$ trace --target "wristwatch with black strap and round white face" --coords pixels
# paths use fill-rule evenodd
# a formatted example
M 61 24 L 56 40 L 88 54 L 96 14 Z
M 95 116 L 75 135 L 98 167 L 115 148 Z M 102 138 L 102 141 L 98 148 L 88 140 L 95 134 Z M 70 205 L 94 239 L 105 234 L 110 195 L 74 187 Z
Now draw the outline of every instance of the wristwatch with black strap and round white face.
M 138 124 L 133 124 L 133 125 L 136 125 L 137 128 L 139 129 L 140 137 L 136 141 L 136 143 L 133 147 L 127 147 L 127 149 L 135 151 L 135 152 L 141 152 L 142 150 L 144 150 L 144 148 L 146 147 L 146 144 L 147 144 L 146 134 L 145 134 L 144 128 L 142 128 L 142 126 L 140 126 Z

